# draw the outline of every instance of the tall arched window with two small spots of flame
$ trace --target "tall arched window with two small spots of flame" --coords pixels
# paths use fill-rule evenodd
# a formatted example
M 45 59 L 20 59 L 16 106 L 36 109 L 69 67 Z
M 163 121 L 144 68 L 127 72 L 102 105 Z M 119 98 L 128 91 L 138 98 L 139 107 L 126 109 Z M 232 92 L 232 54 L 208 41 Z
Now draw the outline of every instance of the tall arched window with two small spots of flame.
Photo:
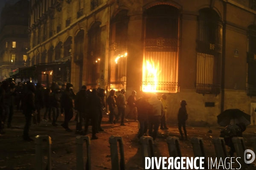
M 101 25 L 96 22 L 88 31 L 88 54 L 87 54 L 87 85 L 96 88 L 99 85 L 99 66 L 101 58 Z

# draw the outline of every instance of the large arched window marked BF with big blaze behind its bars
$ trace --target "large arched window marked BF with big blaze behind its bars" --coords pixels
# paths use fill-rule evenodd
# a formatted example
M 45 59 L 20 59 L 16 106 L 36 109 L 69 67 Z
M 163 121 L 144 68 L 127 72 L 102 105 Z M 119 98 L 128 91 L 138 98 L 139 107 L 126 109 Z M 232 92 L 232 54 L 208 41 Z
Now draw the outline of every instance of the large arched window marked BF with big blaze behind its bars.
M 143 14 L 144 55 L 142 91 L 177 92 L 179 9 L 155 5 Z

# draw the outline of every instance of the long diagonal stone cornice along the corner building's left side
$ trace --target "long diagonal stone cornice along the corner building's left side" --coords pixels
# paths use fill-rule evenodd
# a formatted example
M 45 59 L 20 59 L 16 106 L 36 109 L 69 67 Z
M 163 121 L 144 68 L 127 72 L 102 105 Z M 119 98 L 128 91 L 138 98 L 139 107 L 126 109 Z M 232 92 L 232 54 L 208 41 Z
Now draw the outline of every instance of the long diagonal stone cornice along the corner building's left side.
M 61 30 L 60 32 L 58 32 L 57 34 L 53 35 L 52 37 L 50 37 L 49 39 L 45 40 L 44 42 L 36 45 L 34 48 L 32 48 L 31 50 L 29 50 L 27 53 L 31 53 L 32 51 L 35 51 L 35 49 L 37 49 L 38 47 L 40 47 L 41 45 L 45 45 L 47 42 L 55 39 L 56 37 L 58 37 L 59 35 L 63 34 L 65 31 L 67 31 L 68 29 L 72 28 L 73 26 L 76 26 L 77 23 L 79 23 L 82 20 L 85 20 L 87 18 L 89 18 L 93 13 L 96 13 L 96 11 L 101 11 L 104 8 L 108 7 L 108 1 L 101 4 L 100 6 L 98 6 L 97 8 L 93 9 L 92 11 L 90 11 L 87 14 L 84 14 L 83 16 L 81 16 L 80 18 L 78 18 L 77 20 L 75 20 L 74 22 L 70 23 L 70 26 L 67 26 L 66 28 L 64 28 L 63 30 Z

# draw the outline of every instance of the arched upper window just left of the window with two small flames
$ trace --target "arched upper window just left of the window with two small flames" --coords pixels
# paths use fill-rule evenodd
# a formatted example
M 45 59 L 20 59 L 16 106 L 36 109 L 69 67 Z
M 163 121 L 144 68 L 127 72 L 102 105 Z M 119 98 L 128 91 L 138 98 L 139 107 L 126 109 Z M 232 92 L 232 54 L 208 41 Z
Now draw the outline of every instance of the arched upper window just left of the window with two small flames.
M 84 58 L 84 30 L 81 29 L 75 37 L 75 59 Z

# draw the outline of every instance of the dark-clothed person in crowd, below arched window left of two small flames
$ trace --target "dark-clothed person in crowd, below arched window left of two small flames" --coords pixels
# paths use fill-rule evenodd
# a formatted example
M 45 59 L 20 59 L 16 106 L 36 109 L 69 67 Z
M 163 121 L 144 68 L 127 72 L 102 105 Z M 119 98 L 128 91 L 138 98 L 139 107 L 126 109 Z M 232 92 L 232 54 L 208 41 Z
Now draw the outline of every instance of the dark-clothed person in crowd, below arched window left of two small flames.
M 83 85 L 81 90 L 76 94 L 75 110 L 77 111 L 76 134 L 83 134 L 82 122 L 87 112 L 87 92 L 86 86 Z

